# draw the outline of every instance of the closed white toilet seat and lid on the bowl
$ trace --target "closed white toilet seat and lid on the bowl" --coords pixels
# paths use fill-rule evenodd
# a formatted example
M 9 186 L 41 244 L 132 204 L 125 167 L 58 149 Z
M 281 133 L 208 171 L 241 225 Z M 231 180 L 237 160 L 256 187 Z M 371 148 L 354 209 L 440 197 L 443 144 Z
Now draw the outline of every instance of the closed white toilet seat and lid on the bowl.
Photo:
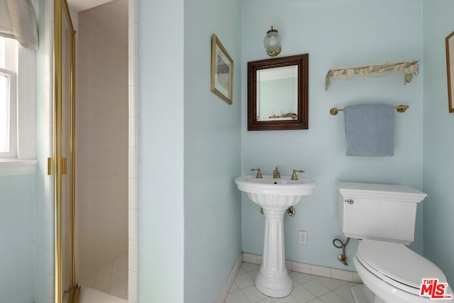
M 423 279 L 438 278 L 446 283 L 445 275 L 435 264 L 403 244 L 362 240 L 356 257 L 384 282 L 417 296 Z

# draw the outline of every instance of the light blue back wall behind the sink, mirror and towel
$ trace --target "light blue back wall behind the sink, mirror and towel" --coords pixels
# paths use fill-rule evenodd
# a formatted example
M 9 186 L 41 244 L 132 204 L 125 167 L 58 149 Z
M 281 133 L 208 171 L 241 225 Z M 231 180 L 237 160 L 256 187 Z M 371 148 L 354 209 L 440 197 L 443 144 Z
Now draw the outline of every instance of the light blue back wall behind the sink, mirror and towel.
M 345 238 L 337 219 L 336 181 L 408 184 L 422 189 L 423 77 L 404 85 L 403 75 L 333 80 L 325 92 L 330 68 L 422 59 L 422 0 L 248 0 L 243 1 L 242 26 L 242 172 L 261 167 L 270 175 L 293 169 L 317 183 L 313 195 L 297 204 L 297 215 L 284 218 L 286 258 L 303 263 L 345 268 L 333 238 Z M 273 26 L 282 35 L 279 57 L 309 53 L 309 130 L 246 131 L 247 62 L 267 58 L 262 46 Z M 269 57 L 268 57 L 269 58 Z M 424 65 L 425 66 L 425 65 Z M 422 65 L 421 65 L 422 69 Z M 408 104 L 395 114 L 394 157 L 346 157 L 343 113 L 332 107 L 382 102 Z M 243 194 L 243 251 L 262 254 L 264 217 Z M 299 245 L 298 231 L 308 231 Z M 353 257 L 356 242 L 348 246 Z M 421 253 L 422 214 L 419 208 L 412 248 Z M 353 269 L 350 265 L 348 269 Z

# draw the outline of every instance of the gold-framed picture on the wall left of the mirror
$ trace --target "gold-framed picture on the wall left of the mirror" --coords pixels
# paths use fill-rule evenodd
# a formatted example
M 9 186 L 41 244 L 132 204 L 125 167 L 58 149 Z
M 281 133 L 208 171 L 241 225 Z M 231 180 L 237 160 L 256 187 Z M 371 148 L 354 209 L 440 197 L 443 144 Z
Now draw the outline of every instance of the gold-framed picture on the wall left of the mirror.
M 211 38 L 211 92 L 233 104 L 233 60 L 215 34 Z

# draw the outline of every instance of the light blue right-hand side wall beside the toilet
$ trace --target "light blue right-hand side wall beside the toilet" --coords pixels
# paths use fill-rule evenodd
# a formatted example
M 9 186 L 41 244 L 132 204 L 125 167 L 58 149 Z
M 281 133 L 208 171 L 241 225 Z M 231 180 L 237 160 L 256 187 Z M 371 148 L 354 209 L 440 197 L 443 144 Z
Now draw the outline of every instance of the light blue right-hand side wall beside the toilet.
M 424 254 L 454 285 L 454 114 L 448 112 L 445 37 L 454 31 L 454 3 L 423 1 Z M 453 88 L 454 89 L 454 88 Z

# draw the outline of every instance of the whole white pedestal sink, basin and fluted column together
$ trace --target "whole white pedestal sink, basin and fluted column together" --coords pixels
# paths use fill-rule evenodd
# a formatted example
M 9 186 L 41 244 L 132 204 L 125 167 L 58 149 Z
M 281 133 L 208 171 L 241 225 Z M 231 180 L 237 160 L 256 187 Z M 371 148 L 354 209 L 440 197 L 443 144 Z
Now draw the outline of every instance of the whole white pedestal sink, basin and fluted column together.
M 292 280 L 285 268 L 284 214 L 302 197 L 314 192 L 315 183 L 309 179 L 273 179 L 272 176 L 237 177 L 235 183 L 265 214 L 265 243 L 255 287 L 269 297 L 287 297 L 292 292 Z

